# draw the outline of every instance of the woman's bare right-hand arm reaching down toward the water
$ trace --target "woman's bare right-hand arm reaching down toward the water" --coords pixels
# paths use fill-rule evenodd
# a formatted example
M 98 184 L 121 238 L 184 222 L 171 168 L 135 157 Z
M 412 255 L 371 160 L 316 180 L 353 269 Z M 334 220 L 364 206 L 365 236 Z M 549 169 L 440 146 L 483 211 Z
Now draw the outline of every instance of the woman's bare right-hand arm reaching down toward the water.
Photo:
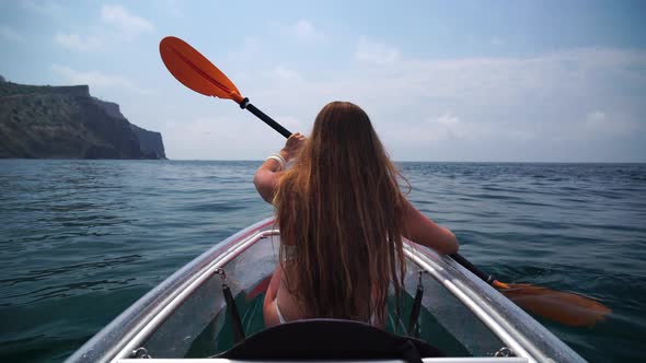
M 404 237 L 432 248 L 440 254 L 450 255 L 458 251 L 458 239 L 453 232 L 424 215 L 408 203 L 404 214 Z

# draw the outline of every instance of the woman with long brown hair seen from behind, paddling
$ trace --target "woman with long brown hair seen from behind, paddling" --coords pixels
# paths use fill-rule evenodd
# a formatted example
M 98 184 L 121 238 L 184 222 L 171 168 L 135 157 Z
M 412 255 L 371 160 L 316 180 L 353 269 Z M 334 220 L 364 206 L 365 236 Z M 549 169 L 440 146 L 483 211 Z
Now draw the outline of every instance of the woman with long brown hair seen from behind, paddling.
M 323 107 L 307 140 L 295 133 L 267 157 L 254 184 L 274 203 L 281 238 L 264 302 L 268 327 L 314 317 L 383 327 L 389 286 L 403 286 L 402 236 L 458 251 L 453 233 L 415 209 L 399 178 L 368 115 L 347 102 Z

